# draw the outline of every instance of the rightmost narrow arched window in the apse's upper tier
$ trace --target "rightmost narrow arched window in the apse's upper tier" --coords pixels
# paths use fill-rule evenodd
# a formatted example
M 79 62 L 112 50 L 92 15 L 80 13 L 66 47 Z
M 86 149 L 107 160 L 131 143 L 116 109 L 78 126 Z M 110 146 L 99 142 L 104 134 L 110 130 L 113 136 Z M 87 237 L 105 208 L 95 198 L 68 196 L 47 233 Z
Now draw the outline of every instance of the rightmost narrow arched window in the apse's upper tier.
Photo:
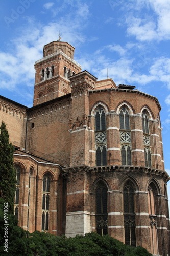
M 145 160 L 145 166 L 152 167 L 148 115 L 149 115 L 148 112 L 146 110 L 143 110 L 142 127 L 143 127 L 144 160 Z

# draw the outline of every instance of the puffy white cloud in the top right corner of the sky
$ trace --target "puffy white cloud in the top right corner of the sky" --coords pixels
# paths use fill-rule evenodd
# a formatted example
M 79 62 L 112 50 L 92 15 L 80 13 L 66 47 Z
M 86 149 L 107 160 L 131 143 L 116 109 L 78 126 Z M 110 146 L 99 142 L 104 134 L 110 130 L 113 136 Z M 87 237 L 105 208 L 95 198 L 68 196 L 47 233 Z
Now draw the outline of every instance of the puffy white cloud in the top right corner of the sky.
M 168 0 L 137 0 L 134 5 L 129 0 L 124 5 L 127 9 L 127 33 L 139 41 L 170 39 L 170 2 Z M 152 13 L 150 11 L 154 11 Z

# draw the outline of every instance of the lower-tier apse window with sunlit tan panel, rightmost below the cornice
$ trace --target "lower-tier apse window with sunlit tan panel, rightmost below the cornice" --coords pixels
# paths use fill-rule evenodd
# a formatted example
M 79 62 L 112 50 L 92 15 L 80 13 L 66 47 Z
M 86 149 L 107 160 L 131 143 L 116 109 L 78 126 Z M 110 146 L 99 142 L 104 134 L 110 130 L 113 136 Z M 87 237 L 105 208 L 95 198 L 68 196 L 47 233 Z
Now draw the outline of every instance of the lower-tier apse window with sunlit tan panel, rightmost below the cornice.
M 151 253 L 154 255 L 159 254 L 157 224 L 156 224 L 155 194 L 156 195 L 158 194 L 157 189 L 154 183 L 151 182 L 148 188 L 148 205 L 149 205 Z

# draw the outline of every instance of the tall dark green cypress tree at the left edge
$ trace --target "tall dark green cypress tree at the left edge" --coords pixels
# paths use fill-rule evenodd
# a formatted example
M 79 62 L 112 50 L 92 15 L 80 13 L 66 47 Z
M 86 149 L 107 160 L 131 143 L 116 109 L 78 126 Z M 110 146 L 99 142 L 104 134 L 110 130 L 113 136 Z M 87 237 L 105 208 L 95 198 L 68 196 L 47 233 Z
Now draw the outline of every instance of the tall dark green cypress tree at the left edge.
M 9 133 L 3 121 L 0 131 L 0 197 L 8 202 L 8 213 L 13 214 L 16 189 L 16 171 L 13 167 L 14 147 L 9 143 Z

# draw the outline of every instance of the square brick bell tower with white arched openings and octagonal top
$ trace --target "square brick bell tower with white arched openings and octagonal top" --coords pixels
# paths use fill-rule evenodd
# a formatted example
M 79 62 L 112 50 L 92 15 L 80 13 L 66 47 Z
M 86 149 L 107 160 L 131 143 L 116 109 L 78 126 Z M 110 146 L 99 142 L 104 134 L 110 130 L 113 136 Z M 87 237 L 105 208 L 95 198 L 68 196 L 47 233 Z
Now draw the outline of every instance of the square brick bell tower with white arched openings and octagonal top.
M 81 66 L 74 60 L 75 48 L 68 42 L 53 41 L 44 46 L 43 58 L 35 62 L 33 106 L 71 92 L 69 77 Z

